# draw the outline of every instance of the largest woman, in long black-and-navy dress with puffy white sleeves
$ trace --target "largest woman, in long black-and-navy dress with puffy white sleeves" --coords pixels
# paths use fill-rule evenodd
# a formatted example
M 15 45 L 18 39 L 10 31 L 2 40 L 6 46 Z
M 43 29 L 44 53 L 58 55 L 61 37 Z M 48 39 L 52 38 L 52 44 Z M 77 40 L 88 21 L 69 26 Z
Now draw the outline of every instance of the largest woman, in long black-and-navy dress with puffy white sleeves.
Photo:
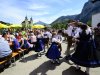
M 96 50 L 95 42 L 91 35 L 91 30 L 87 25 L 81 25 L 81 31 L 74 36 L 77 41 L 75 52 L 71 55 L 71 60 L 79 66 L 86 67 L 86 74 L 89 75 L 90 68 L 100 66 L 100 51 Z

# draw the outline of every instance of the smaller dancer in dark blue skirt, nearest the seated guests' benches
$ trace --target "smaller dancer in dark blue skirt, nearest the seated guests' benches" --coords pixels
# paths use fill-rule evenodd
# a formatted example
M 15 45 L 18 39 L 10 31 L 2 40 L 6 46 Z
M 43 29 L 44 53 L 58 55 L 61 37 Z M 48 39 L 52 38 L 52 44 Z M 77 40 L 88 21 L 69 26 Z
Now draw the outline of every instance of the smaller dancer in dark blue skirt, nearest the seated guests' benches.
M 43 35 L 41 34 L 41 31 L 38 31 L 37 41 L 36 41 L 36 45 L 35 45 L 35 52 L 38 52 L 37 53 L 38 57 L 41 57 L 43 50 L 44 50 Z

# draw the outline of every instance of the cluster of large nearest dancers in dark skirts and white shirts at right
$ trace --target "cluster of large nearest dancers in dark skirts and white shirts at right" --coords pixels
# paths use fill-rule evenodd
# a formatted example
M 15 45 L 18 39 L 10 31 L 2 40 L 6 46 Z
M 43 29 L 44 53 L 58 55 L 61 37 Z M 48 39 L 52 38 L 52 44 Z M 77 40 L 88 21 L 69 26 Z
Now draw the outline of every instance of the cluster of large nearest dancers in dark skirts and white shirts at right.
M 86 67 L 86 74 L 89 75 L 90 68 L 100 67 L 100 23 L 96 28 L 91 28 L 84 23 L 72 22 L 67 30 L 68 47 L 66 59 L 79 66 Z M 74 43 L 74 53 L 70 54 L 70 48 Z

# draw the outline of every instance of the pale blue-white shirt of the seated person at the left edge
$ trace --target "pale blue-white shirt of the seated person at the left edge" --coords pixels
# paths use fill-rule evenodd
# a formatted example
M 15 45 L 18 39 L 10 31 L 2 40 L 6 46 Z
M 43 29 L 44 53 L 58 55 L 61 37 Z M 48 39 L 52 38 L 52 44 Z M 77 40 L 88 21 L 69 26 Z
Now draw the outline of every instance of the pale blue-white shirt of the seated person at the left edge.
M 8 41 L 5 40 L 3 37 L 0 38 L 0 58 L 8 56 L 11 53 L 12 50 L 10 49 Z

